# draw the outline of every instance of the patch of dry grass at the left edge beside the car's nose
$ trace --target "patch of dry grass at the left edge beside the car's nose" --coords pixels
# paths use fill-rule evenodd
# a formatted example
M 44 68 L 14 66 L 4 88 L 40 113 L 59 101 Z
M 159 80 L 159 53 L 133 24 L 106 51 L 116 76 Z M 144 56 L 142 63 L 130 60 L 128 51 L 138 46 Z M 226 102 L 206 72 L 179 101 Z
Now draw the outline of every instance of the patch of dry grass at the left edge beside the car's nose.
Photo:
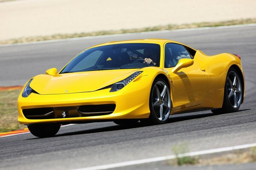
M 0 133 L 24 129 L 17 121 L 17 98 L 20 90 L 0 91 Z

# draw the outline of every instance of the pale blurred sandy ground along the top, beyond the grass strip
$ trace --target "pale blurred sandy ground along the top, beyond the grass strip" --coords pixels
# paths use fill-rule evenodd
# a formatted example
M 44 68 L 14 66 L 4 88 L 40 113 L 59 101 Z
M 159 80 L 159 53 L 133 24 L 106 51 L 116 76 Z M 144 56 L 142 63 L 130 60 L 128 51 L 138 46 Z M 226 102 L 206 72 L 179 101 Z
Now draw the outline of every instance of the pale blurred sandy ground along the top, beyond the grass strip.
M 256 18 L 255 0 L 0 0 L 0 41 Z

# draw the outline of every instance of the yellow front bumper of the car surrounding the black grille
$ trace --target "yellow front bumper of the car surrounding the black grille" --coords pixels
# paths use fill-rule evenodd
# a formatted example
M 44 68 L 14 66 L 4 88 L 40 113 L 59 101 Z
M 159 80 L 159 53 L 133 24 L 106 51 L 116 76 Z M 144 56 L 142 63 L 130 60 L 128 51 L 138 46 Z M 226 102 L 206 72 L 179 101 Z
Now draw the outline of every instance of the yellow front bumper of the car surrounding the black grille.
M 137 84 L 137 83 L 132 83 Z M 111 121 L 113 119 L 142 119 L 148 118 L 149 94 L 151 87 L 138 88 L 136 85 L 125 87 L 120 91 L 109 92 L 110 88 L 83 93 L 73 94 L 49 94 L 40 95 L 32 93 L 24 98 L 21 95 L 18 98 L 18 121 L 20 124 L 35 123 L 61 123 L 61 122 L 97 122 Z M 134 86 L 134 87 L 133 87 Z M 136 89 L 133 90 L 132 89 Z M 27 119 L 23 114 L 23 109 L 31 108 L 65 108 L 81 105 L 105 105 L 115 104 L 113 113 L 100 116 L 55 118 L 55 119 Z

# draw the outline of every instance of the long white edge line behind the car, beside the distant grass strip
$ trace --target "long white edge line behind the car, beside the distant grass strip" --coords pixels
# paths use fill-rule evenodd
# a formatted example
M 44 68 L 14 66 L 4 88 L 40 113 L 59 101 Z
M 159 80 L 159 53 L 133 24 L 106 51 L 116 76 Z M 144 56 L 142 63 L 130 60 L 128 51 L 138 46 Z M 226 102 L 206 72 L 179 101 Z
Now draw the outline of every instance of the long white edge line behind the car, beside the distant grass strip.
M 206 30 L 206 29 L 239 28 L 239 27 L 248 27 L 248 26 L 256 26 L 256 23 L 252 23 L 252 24 L 242 24 L 242 25 L 234 25 L 234 26 L 216 26 L 216 27 L 182 28 L 182 29 L 163 30 L 163 31 L 145 31 L 145 32 L 123 33 L 123 34 L 108 34 L 108 35 L 97 35 L 97 36 L 88 36 L 88 37 L 64 38 L 64 39 L 57 39 L 57 40 L 45 40 L 45 41 L 33 41 L 33 42 L 20 42 L 20 43 L 16 43 L 16 44 L 4 44 L 4 45 L 0 45 L 0 47 L 14 46 L 14 45 L 43 44 L 43 43 L 49 43 L 49 42 L 64 42 L 64 41 L 76 41 L 76 40 L 89 40 L 89 39 L 106 38 L 106 37 L 122 37 L 122 36 L 138 35 L 138 34 L 159 34 L 159 33 L 171 33 L 171 32 L 181 32 L 181 31 L 196 31 L 196 30 Z

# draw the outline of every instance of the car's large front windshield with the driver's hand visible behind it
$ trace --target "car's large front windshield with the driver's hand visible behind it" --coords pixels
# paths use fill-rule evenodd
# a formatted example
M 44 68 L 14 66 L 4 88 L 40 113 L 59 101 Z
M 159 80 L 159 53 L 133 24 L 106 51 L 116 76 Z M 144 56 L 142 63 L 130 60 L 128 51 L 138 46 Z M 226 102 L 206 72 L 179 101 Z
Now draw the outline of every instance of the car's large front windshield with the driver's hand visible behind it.
M 152 59 L 150 65 L 145 58 Z M 159 67 L 160 45 L 150 43 L 127 43 L 90 48 L 75 57 L 61 73 L 113 70 L 128 68 Z

